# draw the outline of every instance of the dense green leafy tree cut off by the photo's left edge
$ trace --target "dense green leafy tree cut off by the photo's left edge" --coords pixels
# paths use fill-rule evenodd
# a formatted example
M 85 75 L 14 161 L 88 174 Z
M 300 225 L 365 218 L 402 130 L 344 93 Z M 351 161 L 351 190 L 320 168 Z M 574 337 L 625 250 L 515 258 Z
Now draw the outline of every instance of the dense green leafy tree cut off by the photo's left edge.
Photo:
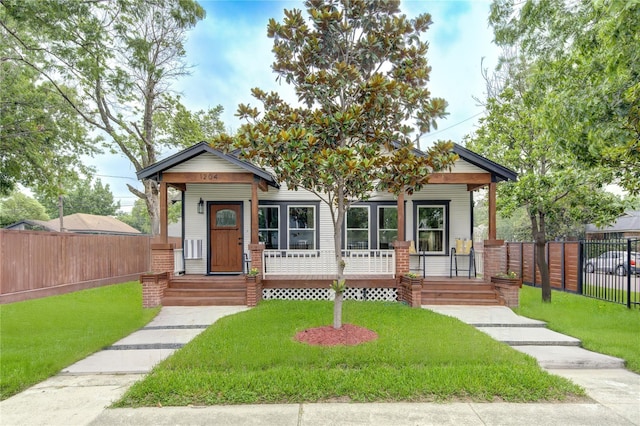
M 61 182 L 89 172 L 81 156 L 95 150 L 76 112 L 34 70 L 8 59 L 5 41 L 0 33 L 0 195 L 16 184 L 55 195 Z

